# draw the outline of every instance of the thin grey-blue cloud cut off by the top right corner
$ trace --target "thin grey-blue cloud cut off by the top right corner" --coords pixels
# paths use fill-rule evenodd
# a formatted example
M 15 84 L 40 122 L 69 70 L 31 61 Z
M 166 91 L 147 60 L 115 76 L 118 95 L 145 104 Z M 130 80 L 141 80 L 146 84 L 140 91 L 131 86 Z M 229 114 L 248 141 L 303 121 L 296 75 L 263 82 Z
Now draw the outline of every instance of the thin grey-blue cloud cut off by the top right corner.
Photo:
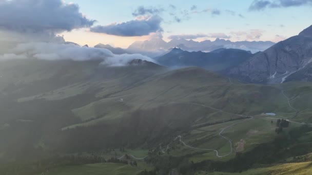
M 312 0 L 254 0 L 250 7 L 250 11 L 259 11 L 266 8 L 287 8 L 287 7 L 298 7 L 304 5 L 312 5 Z

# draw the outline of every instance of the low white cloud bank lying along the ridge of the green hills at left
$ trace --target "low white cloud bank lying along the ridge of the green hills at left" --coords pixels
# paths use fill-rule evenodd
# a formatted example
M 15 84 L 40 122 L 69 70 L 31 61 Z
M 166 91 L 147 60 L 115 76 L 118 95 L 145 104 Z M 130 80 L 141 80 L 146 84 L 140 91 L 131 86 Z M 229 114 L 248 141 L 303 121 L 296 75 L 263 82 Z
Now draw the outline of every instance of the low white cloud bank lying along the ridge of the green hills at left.
M 85 61 L 92 59 L 102 59 L 102 64 L 109 66 L 127 65 L 128 62 L 133 59 L 142 59 L 154 62 L 153 59 L 141 54 L 114 55 L 107 49 L 87 48 L 52 42 L 20 43 L 9 52 L 11 53 L 0 55 L 0 60 L 44 59 Z

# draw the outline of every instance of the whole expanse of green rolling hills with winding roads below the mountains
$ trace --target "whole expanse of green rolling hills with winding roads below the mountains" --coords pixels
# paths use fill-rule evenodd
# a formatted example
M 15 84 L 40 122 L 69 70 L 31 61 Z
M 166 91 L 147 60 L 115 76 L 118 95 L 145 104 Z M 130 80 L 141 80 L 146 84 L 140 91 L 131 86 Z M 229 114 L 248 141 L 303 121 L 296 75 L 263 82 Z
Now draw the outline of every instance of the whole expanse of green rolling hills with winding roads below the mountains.
M 14 60 L 0 64 L 0 75 L 2 173 L 144 170 L 107 167 L 120 157 L 151 173 L 237 172 L 312 152 L 310 82 L 245 84 L 146 61 Z M 282 118 L 289 126 L 277 134 Z

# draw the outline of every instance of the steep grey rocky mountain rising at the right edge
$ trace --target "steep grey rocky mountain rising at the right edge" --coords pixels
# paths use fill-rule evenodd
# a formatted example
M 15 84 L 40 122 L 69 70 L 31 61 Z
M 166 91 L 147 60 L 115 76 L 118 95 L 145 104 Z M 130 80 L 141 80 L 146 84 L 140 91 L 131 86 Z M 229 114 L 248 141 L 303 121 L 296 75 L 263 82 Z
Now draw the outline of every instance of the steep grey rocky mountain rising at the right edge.
M 293 80 L 309 80 L 312 65 L 312 26 L 299 35 L 277 43 L 262 53 L 256 54 L 227 74 L 246 82 L 281 83 L 288 77 Z M 298 76 L 305 74 L 305 77 Z M 297 75 L 298 74 L 298 75 Z M 297 75 L 297 76 L 294 76 Z M 297 77 L 294 79 L 294 77 Z

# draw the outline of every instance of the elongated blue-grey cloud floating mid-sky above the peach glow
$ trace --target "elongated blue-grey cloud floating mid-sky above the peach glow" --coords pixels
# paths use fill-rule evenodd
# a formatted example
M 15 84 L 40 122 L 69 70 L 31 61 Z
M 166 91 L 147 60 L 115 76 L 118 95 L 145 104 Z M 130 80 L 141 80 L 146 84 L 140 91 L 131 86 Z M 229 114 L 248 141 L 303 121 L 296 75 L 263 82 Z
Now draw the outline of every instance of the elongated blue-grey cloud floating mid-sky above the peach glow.
M 161 28 L 162 20 L 163 19 L 158 15 L 139 16 L 136 17 L 135 20 L 130 20 L 124 23 L 95 26 L 90 28 L 90 31 L 116 36 L 144 36 L 153 32 L 163 31 Z

